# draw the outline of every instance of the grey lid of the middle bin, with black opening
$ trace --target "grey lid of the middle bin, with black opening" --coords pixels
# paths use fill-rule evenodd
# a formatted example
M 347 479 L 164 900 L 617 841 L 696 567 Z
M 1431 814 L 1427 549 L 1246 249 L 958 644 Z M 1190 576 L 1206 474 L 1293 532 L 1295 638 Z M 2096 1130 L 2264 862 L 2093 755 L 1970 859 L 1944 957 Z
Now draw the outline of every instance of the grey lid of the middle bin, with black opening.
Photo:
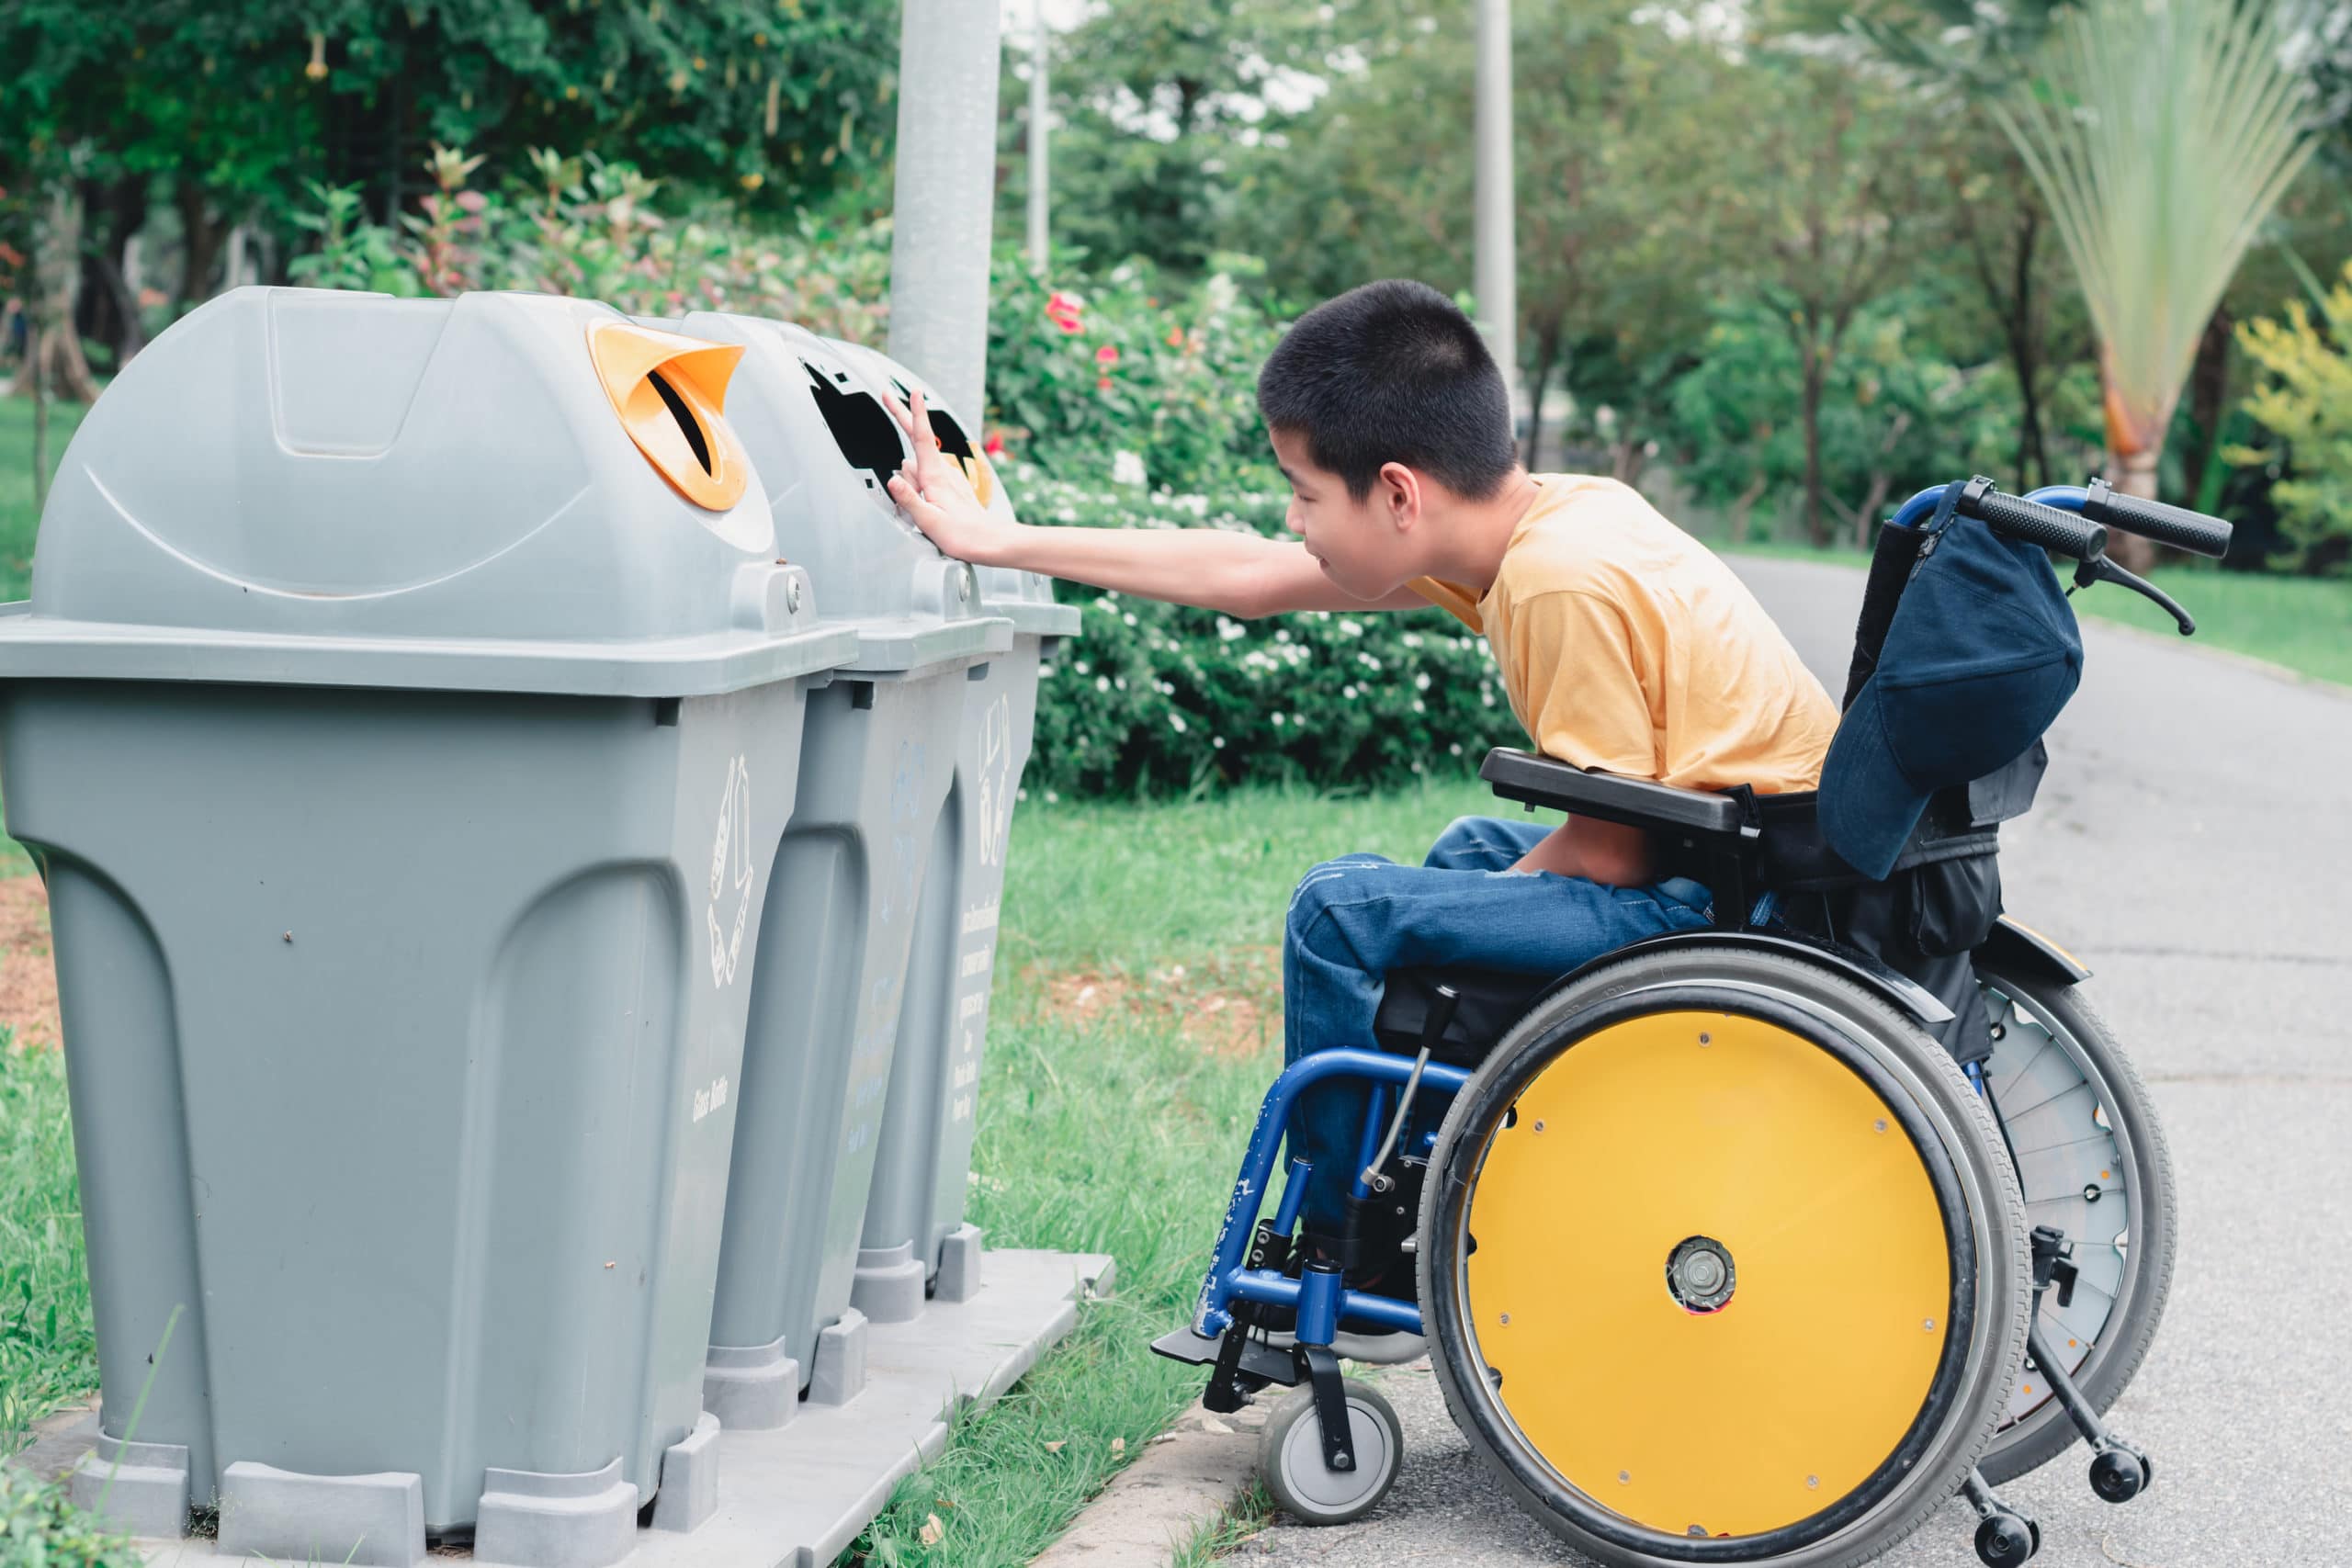
M 741 353 L 727 418 L 767 482 L 776 555 L 807 567 L 826 618 L 858 630 L 854 670 L 1004 654 L 1011 618 L 978 576 L 906 520 L 884 482 L 906 433 L 835 346 L 793 322 L 696 310 L 677 331 Z

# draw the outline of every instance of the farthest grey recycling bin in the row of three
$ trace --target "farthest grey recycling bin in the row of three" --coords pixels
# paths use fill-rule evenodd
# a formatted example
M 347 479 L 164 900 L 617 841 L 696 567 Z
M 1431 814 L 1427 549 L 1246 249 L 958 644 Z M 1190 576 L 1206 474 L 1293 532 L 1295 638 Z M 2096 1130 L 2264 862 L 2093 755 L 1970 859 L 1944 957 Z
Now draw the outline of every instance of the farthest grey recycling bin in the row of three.
M 988 458 L 974 449 L 978 425 L 964 423 L 896 360 L 851 343 L 837 348 L 891 395 L 920 388 L 934 409 L 943 451 L 969 465 L 993 512 L 1014 515 Z M 1037 668 L 1054 644 L 1080 628 L 1077 607 L 1056 604 L 1051 581 L 1037 574 L 981 569 L 978 592 L 988 614 L 1014 623 L 1014 651 L 990 661 L 964 689 L 955 788 L 915 914 L 915 952 L 854 1293 L 856 1307 L 880 1324 L 913 1319 L 927 1295 L 964 1300 L 978 1288 L 981 1237 L 964 1225 L 964 1199 L 1004 853 L 1037 717 Z

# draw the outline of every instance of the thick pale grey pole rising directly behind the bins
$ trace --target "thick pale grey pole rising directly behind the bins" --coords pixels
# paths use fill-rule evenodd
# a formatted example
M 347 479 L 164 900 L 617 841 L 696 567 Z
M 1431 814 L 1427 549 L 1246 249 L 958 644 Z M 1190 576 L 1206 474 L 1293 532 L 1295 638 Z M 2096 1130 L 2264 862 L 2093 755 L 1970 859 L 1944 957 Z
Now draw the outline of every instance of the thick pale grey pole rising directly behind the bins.
M 906 0 L 889 355 L 971 425 L 988 376 L 1000 0 Z

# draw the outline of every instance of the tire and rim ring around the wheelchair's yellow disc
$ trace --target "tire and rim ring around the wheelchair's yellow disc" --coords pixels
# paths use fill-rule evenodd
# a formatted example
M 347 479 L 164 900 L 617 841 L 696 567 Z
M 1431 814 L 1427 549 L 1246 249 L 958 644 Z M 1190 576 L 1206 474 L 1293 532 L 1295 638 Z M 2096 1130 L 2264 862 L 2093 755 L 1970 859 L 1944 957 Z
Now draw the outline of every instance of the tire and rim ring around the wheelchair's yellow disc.
M 1940 1143 L 1945 1180 L 1978 1244 L 1973 1272 L 1955 1269 L 1955 1281 L 1969 1279 L 1973 1291 L 1957 1302 L 1966 1307 L 1966 1333 L 1952 1335 L 1952 1371 L 1938 1373 L 1924 1406 L 1931 1415 L 1917 1420 L 1903 1448 L 1846 1500 L 1830 1500 L 1811 1519 L 1762 1535 L 1665 1535 L 1578 1493 L 1517 1434 L 1477 1361 L 1465 1321 L 1463 1218 L 1491 1131 L 1534 1074 L 1583 1032 L 1578 1023 L 1604 1016 L 1604 1009 L 1611 1018 L 1642 1011 L 1644 992 L 1658 992 L 1656 1011 L 1703 1006 L 1691 1001 L 1693 994 L 1795 1011 L 1809 1032 L 1844 1041 L 1856 1060 L 1867 1063 L 1867 1072 L 1856 1067 L 1865 1081 L 1875 1077 L 1882 1093 L 1893 1088 L 1900 1095 L 1900 1103 L 1886 1095 L 1898 1117 L 1929 1128 Z M 1917 1135 L 1915 1145 L 1926 1159 L 1929 1145 Z M 1950 1053 L 1893 1006 L 1825 966 L 1731 945 L 1625 957 L 1543 997 L 1503 1034 L 1456 1095 L 1430 1157 L 1418 1269 L 1430 1363 L 1470 1448 L 1531 1516 L 1578 1552 L 1618 1568 L 1729 1561 L 1851 1568 L 1884 1554 L 1931 1519 L 1983 1455 L 2025 1359 L 2032 1295 L 2016 1173 L 1999 1128 Z M 1955 1312 L 1952 1324 L 1959 1321 Z M 1839 1512 L 1846 1516 L 1837 1519 Z

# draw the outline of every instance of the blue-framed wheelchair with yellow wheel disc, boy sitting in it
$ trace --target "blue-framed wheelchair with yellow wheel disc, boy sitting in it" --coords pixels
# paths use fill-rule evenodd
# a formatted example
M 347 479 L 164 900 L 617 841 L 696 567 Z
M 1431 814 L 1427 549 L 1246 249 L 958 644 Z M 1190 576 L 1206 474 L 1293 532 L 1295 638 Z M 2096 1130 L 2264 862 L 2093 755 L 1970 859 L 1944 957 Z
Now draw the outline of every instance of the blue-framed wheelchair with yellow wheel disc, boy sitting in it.
M 2230 541 L 2098 482 L 1922 491 L 1879 534 L 1849 703 L 1922 524 L 1952 517 L 2157 599 L 2183 635 L 2107 531 Z M 2164 1312 L 2173 1185 L 2089 971 L 2002 912 L 1999 825 L 2044 766 L 2037 741 L 1940 792 L 1867 879 L 1813 795 L 1491 752 L 1503 799 L 1646 827 L 1715 926 L 1559 978 L 1385 976 L 1371 1041 L 1268 1091 L 1195 1319 L 1152 1349 L 1209 1368 L 1209 1410 L 1291 1389 L 1261 1476 L 1308 1523 L 1359 1519 L 1402 1465 L 1388 1401 L 1341 1371 L 1374 1335 L 1421 1335 L 1479 1460 L 1604 1563 L 1860 1563 L 1957 1493 L 2009 1568 L 2042 1535 L 1992 1488 L 2077 1436 L 2093 1490 L 2131 1500 L 2154 1467 L 2103 1413 Z M 1296 1234 L 1305 1161 L 1272 1178 L 1298 1093 L 1334 1077 L 1374 1093 L 1345 1248 L 1319 1258 Z

